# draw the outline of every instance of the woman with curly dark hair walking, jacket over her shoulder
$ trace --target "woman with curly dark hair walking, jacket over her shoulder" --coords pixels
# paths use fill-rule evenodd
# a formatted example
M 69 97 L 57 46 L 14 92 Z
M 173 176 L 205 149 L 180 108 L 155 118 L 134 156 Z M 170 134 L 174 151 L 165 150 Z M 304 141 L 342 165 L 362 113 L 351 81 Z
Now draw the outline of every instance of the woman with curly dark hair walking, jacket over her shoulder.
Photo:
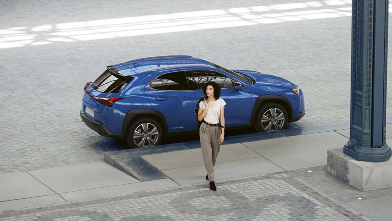
M 220 86 L 218 83 L 208 81 L 203 86 L 203 93 L 207 99 L 201 101 L 198 112 L 200 125 L 200 144 L 201 152 L 207 176 L 205 179 L 210 181 L 210 189 L 216 191 L 214 182 L 214 166 L 216 157 L 220 150 L 220 144 L 225 139 L 225 105 L 226 102 L 220 97 Z M 219 120 L 220 123 L 219 124 Z

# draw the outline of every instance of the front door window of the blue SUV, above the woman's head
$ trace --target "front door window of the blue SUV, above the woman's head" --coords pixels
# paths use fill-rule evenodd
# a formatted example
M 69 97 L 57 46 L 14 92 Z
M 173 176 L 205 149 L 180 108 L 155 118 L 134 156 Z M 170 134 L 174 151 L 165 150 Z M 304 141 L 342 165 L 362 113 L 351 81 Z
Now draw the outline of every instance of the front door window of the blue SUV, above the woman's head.
M 192 71 L 192 74 L 199 89 L 203 88 L 204 83 L 209 80 L 217 82 L 221 88 L 234 88 L 233 80 L 221 73 L 213 71 Z

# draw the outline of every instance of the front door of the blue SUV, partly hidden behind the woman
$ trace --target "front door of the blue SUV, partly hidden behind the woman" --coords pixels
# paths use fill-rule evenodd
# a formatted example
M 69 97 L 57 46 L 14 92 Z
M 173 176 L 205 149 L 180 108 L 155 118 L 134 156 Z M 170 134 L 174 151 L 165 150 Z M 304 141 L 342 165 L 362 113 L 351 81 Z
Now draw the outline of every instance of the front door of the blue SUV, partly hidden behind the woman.
M 237 91 L 234 89 L 235 80 L 218 71 L 194 70 L 190 71 L 190 74 L 194 77 L 194 82 L 198 85 L 198 89 L 196 90 L 198 98 L 204 96 L 201 88 L 203 88 L 205 82 L 212 80 L 220 85 L 220 97 L 226 102 L 226 126 L 249 124 L 252 96 L 248 88 L 243 86 L 241 91 Z

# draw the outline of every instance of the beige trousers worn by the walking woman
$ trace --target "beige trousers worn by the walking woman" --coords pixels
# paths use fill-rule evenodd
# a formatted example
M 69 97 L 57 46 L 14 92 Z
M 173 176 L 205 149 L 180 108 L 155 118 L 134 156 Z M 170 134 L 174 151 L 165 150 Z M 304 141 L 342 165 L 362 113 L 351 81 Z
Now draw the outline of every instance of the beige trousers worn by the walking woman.
M 216 157 L 220 150 L 219 137 L 221 128 L 218 126 L 209 126 L 205 123 L 200 125 L 200 145 L 205 170 L 207 171 L 208 180 L 214 181 L 214 166 Z

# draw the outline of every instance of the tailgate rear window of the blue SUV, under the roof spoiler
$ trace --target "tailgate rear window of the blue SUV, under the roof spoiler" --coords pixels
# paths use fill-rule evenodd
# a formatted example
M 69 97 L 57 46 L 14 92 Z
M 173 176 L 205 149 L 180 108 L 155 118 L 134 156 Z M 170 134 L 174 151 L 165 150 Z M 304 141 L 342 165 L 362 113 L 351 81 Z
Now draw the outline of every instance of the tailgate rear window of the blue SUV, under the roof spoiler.
M 93 82 L 92 87 L 102 93 L 117 93 L 132 79 L 130 76 L 123 76 L 120 72 L 116 72 L 116 69 L 107 69 Z

